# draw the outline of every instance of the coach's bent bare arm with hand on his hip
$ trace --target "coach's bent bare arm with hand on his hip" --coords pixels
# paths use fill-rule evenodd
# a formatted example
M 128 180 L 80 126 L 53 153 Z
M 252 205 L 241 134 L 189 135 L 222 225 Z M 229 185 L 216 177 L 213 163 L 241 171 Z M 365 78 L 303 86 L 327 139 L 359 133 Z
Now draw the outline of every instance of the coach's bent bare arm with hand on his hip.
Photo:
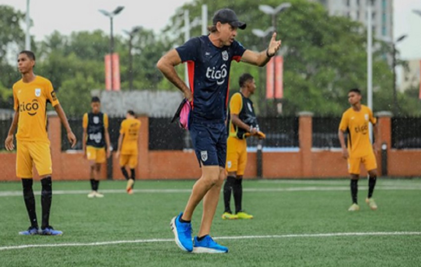
M 180 63 L 181 58 L 178 55 L 177 50 L 172 49 L 158 60 L 157 67 L 168 81 L 183 92 L 184 97 L 187 98 L 187 100 L 192 101 L 192 92 L 183 80 L 181 80 L 174 68 Z

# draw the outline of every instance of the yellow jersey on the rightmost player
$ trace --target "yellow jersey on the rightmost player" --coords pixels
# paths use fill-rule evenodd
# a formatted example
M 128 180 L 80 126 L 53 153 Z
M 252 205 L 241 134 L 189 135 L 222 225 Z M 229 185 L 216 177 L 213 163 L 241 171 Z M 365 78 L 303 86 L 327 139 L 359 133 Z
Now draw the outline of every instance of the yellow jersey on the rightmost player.
M 373 152 L 368 134 L 368 122 L 374 125 L 377 120 L 365 105 L 361 105 L 360 111 L 355 111 L 351 107 L 342 114 L 339 130 L 348 132 L 348 151 L 351 158 L 364 157 Z

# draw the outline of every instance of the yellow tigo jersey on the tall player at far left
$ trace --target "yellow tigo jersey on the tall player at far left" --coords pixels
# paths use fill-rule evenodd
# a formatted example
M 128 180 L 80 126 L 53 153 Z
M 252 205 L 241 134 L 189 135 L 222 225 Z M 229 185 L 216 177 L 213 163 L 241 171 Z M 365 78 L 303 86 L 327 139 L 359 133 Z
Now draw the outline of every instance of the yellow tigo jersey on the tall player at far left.
M 41 76 L 30 83 L 21 80 L 13 85 L 14 110 L 19 112 L 16 139 L 50 143 L 47 134 L 47 103 L 59 104 L 53 85 Z

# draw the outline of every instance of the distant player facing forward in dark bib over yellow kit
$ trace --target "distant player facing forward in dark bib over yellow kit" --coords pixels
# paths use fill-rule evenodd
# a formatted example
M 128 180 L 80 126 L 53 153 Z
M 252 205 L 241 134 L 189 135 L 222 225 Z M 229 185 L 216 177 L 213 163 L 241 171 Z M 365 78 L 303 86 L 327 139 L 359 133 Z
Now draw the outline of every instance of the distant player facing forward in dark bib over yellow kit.
M 104 197 L 98 192 L 101 164 L 111 155 L 108 134 L 108 116 L 101 112 L 98 96 L 92 97 L 92 111 L 83 115 L 83 151 L 91 166 L 91 193 L 89 198 Z M 105 149 L 106 147 L 106 149 Z M 105 158 L 106 157 L 106 158 Z

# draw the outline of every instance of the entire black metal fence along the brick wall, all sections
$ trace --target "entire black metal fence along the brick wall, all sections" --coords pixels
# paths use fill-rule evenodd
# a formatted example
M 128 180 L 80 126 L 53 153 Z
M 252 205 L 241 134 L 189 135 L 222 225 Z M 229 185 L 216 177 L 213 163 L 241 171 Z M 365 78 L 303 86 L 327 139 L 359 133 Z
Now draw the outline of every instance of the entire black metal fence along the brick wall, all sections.
M 109 118 L 109 134 L 113 149 L 117 140 L 121 121 L 124 118 Z M 4 139 L 7 136 L 12 118 L 0 120 L 0 150 L 4 150 Z M 188 131 L 182 130 L 176 123 L 170 123 L 169 118 L 149 118 L 149 149 L 150 150 L 183 150 L 192 148 Z M 266 134 L 263 147 L 285 148 L 299 147 L 298 118 L 258 118 L 261 130 Z M 313 147 L 339 148 L 337 131 L 340 118 L 313 118 Z M 76 135 L 77 144 L 74 149 L 82 149 L 82 117 L 69 118 L 70 127 Z M 61 130 L 61 149 L 68 150 L 70 144 L 64 128 Z M 421 149 L 421 118 L 392 118 L 391 141 L 395 149 Z M 257 138 L 248 140 L 249 147 L 256 147 Z

